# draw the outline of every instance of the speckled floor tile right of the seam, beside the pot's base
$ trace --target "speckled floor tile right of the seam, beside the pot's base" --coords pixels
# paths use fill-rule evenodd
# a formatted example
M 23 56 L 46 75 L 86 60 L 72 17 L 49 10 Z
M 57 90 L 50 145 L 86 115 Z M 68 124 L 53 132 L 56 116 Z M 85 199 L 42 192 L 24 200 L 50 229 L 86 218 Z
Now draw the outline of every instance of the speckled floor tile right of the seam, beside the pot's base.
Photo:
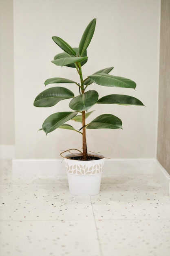
M 91 200 L 97 220 L 170 218 L 170 197 L 158 184 L 102 184 Z

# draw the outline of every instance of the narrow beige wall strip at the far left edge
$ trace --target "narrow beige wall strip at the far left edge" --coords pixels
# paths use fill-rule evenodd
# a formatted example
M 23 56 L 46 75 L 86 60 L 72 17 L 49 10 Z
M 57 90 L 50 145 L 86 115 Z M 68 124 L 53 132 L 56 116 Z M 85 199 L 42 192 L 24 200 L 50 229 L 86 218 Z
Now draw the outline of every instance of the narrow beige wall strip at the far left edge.
M 14 144 L 13 0 L 0 0 L 0 145 Z

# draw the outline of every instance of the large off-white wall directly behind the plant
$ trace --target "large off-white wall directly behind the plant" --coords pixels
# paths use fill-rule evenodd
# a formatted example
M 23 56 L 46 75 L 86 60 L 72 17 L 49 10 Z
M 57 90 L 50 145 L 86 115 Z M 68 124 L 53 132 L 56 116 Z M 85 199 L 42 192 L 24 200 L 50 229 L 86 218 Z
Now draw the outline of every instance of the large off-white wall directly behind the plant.
M 61 150 L 81 148 L 76 132 L 57 129 L 47 136 L 37 132 L 48 115 L 70 111 L 69 100 L 52 108 L 35 108 L 33 101 L 47 78 L 77 79 L 75 70 L 51 63 L 62 52 L 51 37 L 60 36 L 77 47 L 93 18 L 97 25 L 84 77 L 114 66 L 111 74 L 136 81 L 136 90 L 91 88 L 99 90 L 100 97 L 129 94 L 146 107 L 95 105 L 89 122 L 112 113 L 123 121 L 123 130 L 87 130 L 88 150 L 110 158 L 156 157 L 160 0 L 15 0 L 15 158 L 60 158 Z M 75 85 L 66 87 L 76 92 Z

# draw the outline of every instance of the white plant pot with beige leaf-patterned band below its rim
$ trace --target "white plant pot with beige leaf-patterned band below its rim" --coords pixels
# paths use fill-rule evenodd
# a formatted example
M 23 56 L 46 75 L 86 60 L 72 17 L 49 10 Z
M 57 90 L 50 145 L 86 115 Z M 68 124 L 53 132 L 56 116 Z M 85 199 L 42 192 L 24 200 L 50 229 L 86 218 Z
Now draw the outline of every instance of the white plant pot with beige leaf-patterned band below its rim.
M 68 175 L 69 191 L 72 195 L 90 196 L 97 195 L 104 168 L 104 156 L 97 160 L 81 161 L 68 159 L 73 155 L 66 155 L 64 159 Z

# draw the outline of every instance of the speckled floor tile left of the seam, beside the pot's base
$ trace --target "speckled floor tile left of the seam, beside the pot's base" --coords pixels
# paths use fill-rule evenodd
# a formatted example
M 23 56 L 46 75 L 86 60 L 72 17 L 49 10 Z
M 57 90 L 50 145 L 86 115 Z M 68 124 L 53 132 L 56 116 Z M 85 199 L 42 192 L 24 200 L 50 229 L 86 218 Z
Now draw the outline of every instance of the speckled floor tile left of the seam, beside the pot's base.
M 1 184 L 0 220 L 93 219 L 90 197 L 76 197 L 67 184 Z

